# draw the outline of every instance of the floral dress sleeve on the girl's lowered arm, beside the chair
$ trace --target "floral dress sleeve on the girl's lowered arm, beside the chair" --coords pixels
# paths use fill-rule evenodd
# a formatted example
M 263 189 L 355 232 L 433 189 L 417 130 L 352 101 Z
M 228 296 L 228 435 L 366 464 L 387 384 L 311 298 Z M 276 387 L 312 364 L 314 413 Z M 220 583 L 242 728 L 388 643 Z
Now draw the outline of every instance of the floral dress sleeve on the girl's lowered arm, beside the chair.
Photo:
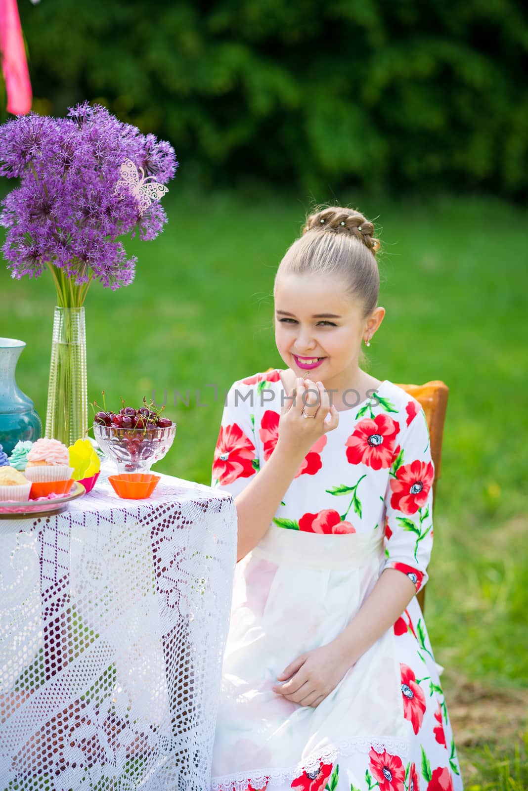
M 428 581 L 435 468 L 423 407 L 414 400 L 408 407 L 407 414 L 415 414 L 394 449 L 385 492 L 386 559 L 382 570 L 402 571 L 418 592 Z

